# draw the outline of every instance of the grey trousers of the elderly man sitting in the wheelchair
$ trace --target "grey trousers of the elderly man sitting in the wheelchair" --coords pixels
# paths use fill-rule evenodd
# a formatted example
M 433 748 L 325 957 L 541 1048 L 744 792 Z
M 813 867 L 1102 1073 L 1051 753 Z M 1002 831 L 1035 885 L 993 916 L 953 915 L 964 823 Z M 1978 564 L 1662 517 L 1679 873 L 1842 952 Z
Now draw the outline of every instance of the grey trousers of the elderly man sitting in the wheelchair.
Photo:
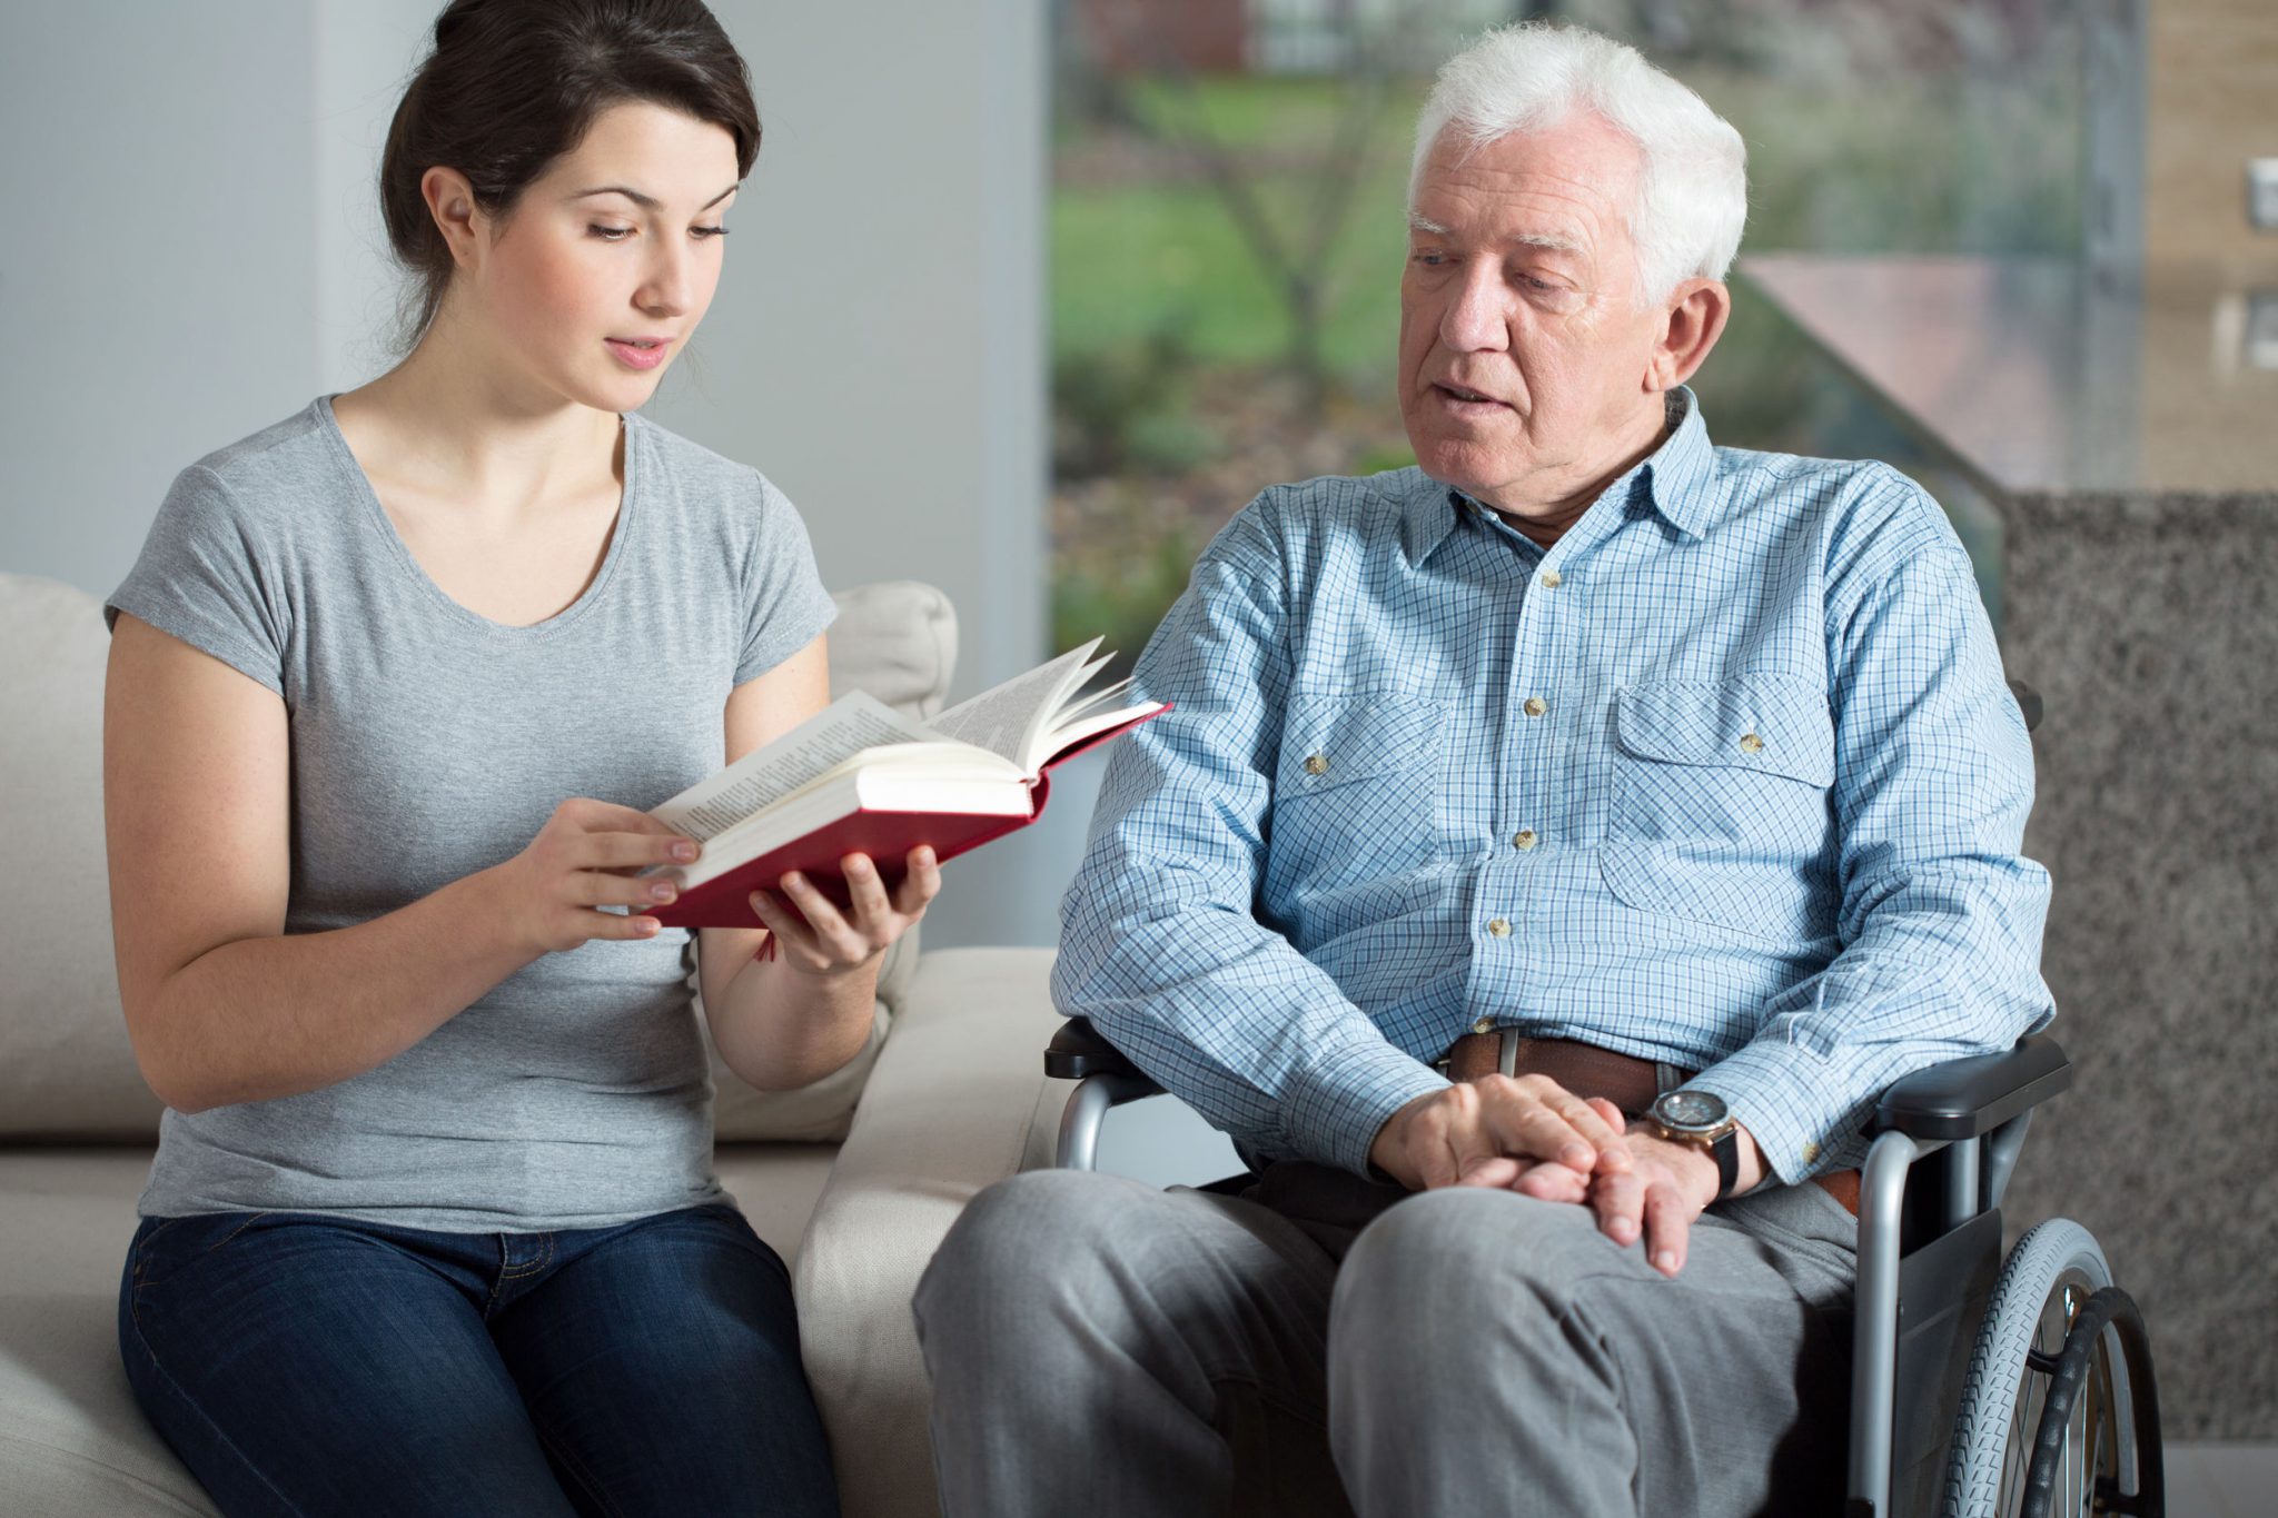
M 1854 1268 L 1818 1186 L 1718 1204 L 1665 1279 L 1508 1190 L 1018 1174 L 918 1281 L 943 1511 L 1834 1513 Z

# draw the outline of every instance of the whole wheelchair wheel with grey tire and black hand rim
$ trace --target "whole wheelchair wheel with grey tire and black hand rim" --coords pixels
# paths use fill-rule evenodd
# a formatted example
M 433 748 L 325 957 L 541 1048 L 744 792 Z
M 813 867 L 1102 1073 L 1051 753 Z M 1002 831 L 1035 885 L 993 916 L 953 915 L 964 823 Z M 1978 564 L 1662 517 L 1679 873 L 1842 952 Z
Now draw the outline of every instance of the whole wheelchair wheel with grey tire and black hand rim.
M 1945 1518 L 2164 1511 L 2144 1322 L 2066 1218 L 2002 1265 L 1955 1420 Z

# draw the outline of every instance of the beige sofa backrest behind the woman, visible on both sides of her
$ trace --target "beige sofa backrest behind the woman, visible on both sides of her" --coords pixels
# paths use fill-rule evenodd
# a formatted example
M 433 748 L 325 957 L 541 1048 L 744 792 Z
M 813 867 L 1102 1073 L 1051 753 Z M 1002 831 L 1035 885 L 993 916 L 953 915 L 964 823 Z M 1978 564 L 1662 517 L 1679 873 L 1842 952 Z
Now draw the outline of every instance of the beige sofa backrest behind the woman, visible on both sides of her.
M 893 580 L 836 596 L 831 692 L 868 690 L 913 717 L 941 710 L 957 617 L 932 585 Z M 11 856 L 0 881 L 0 1140 L 148 1142 L 159 1102 L 141 1081 L 112 956 L 103 840 L 103 603 L 59 580 L 0 574 L 0 797 Z M 720 1138 L 843 1138 L 877 1045 L 916 965 L 907 935 L 879 976 L 870 1047 L 790 1092 L 759 1092 L 713 1056 Z

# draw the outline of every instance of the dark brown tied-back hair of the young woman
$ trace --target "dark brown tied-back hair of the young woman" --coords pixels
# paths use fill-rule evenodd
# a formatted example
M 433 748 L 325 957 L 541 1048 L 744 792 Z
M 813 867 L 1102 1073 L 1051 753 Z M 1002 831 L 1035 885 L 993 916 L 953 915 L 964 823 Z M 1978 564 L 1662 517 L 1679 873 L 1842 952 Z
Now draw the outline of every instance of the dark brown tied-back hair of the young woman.
M 595 116 L 647 100 L 736 139 L 736 178 L 759 157 L 752 77 L 702 0 L 451 0 L 380 155 L 380 218 L 412 273 L 399 310 L 408 353 L 451 287 L 451 246 L 419 178 L 458 168 L 474 200 L 506 216 L 531 180 L 576 148 Z

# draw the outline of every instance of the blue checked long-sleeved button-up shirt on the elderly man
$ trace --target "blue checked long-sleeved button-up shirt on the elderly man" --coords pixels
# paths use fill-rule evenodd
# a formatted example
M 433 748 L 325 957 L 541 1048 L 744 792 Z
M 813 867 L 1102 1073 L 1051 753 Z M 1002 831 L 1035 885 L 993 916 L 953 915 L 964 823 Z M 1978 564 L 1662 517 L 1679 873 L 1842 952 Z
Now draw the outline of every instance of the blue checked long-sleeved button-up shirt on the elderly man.
M 1367 1174 L 1474 1026 L 1702 1074 L 1779 1179 L 2052 1015 L 2032 751 L 1884 464 L 1677 428 L 1540 548 L 1417 469 L 1269 489 L 1139 658 L 1052 995 L 1246 1152 Z

